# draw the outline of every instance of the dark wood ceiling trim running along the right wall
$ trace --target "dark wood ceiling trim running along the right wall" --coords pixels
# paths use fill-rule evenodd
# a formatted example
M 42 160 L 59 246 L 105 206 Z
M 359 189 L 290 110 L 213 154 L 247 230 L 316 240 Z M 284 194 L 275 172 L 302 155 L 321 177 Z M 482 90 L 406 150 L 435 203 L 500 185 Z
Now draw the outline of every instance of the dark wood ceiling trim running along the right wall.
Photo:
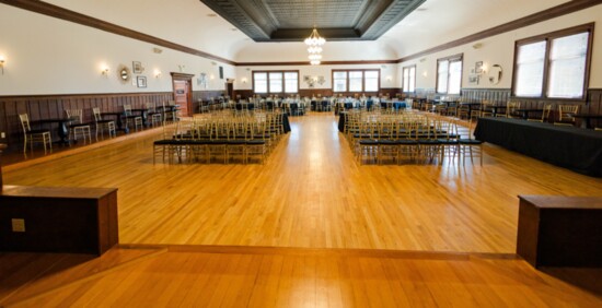
M 575 13 L 577 11 L 581 11 L 581 10 L 584 10 L 584 9 L 588 9 L 588 8 L 598 5 L 598 4 L 602 4 L 602 0 L 572 0 L 572 1 L 569 1 L 569 2 L 566 2 L 566 3 L 563 3 L 560 5 L 556 5 L 554 8 L 549 8 L 547 10 L 536 12 L 536 13 L 533 13 L 531 15 L 528 15 L 528 16 L 508 22 L 508 23 L 505 23 L 505 24 L 501 24 L 501 25 L 498 25 L 498 26 L 495 26 L 495 27 L 491 27 L 491 28 L 488 28 L 488 29 L 485 29 L 485 31 L 482 31 L 482 32 L 477 32 L 475 34 L 471 34 L 468 36 L 465 36 L 465 37 L 462 37 L 462 38 L 459 38 L 459 39 L 455 39 L 455 40 L 452 40 L 452 42 L 448 42 L 445 44 L 442 44 L 442 45 L 422 50 L 420 52 L 416 52 L 414 55 L 400 58 L 397 60 L 397 62 L 401 63 L 401 62 L 414 60 L 414 59 L 417 59 L 417 58 L 420 58 L 420 57 L 424 57 L 424 56 L 427 56 L 427 55 L 430 55 L 430 54 L 435 54 L 435 52 L 438 52 L 438 51 L 443 51 L 445 49 L 450 49 L 450 48 L 453 48 L 453 47 L 458 47 L 458 46 L 461 46 L 461 45 L 473 43 L 475 40 L 484 39 L 484 38 L 487 38 L 487 37 L 499 35 L 499 34 L 502 34 L 502 33 L 507 33 L 507 32 L 510 32 L 510 31 L 518 29 L 518 28 L 530 26 L 530 25 L 533 25 L 533 24 L 536 24 L 536 23 L 541 23 L 541 22 L 544 22 L 544 21 L 547 21 L 547 20 L 552 20 L 552 19 L 555 19 L 555 17 L 559 17 L 559 16 L 567 15 L 567 14 L 570 14 L 570 13 Z

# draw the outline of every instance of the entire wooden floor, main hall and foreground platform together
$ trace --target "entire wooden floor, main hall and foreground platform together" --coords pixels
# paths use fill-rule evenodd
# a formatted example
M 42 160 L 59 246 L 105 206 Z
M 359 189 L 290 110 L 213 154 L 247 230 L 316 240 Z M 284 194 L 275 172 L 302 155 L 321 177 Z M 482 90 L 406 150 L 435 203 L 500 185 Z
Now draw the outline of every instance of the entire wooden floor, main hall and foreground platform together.
M 332 114 L 312 114 L 290 120 L 291 133 L 283 138 L 265 165 L 153 165 L 152 141 L 159 138 L 159 132 L 151 132 L 83 153 L 65 154 L 61 155 L 65 157 L 40 164 L 28 161 L 3 167 L 7 185 L 118 188 L 123 245 L 243 249 L 229 254 L 231 260 L 222 260 L 222 253 L 192 249 L 187 254 L 167 249 L 166 253 L 132 262 L 132 266 L 117 266 L 106 275 L 81 282 L 77 280 L 73 284 L 61 284 L 62 275 L 58 275 L 51 281 L 63 286 L 58 289 L 49 287 L 55 291 L 32 298 L 32 304 L 77 303 L 77 306 L 85 306 L 84 303 L 90 300 L 94 303 L 91 306 L 106 306 L 127 303 L 124 301 L 127 297 L 134 300 L 132 305 L 141 305 L 143 296 L 140 294 L 148 293 L 144 296 L 149 303 L 174 306 L 177 303 L 170 301 L 174 300 L 170 299 L 171 295 L 166 295 L 167 301 L 154 297 L 154 284 L 136 282 L 152 281 L 152 277 L 161 285 L 161 280 L 180 275 L 185 276 L 177 277 L 177 285 L 184 291 L 174 291 L 172 288 L 176 286 L 173 286 L 169 292 L 189 294 L 185 298 L 192 299 L 190 303 L 195 303 L 195 297 L 189 296 L 209 300 L 186 289 L 192 285 L 205 285 L 207 275 L 215 275 L 216 280 L 211 281 L 216 285 L 211 287 L 216 294 L 211 298 L 218 301 L 208 303 L 216 304 L 210 306 L 367 307 L 367 303 L 373 307 L 415 306 L 417 298 L 424 299 L 421 304 L 425 306 L 563 306 L 563 303 L 577 299 L 583 299 L 583 306 L 595 303 L 591 300 L 601 303 L 602 291 L 598 294 L 580 291 L 532 270 L 522 260 L 506 256 L 514 253 L 516 249 L 518 194 L 602 196 L 602 179 L 581 176 L 493 145 L 485 145 L 483 167 L 470 161 L 465 165 L 444 163 L 442 166 L 358 165 L 347 142 L 338 133 L 337 118 Z M 313 259 L 290 257 L 289 260 L 287 250 L 275 261 L 268 259 L 276 257 L 268 258 L 269 253 L 263 250 L 246 251 L 259 249 L 257 247 L 344 252 L 332 258 L 312 254 Z M 368 257 L 354 259 L 354 253 L 346 254 L 355 249 L 416 252 L 408 252 L 414 257 L 401 258 L 403 263 L 397 264 L 387 263 L 387 254 L 370 257 L 375 260 Z M 422 258 L 420 251 L 451 256 L 451 261 L 445 257 L 447 261 L 438 263 L 428 257 Z M 453 256 L 458 253 L 470 256 L 466 257 L 470 262 L 453 263 Z M 489 257 L 471 257 L 482 256 L 478 253 Z M 13 253 L 8 254 L 0 257 L 20 259 Z M 166 260 L 171 259 L 183 262 L 182 266 L 170 265 L 163 271 L 161 264 L 170 264 L 171 261 Z M 264 264 L 263 260 L 267 263 Z M 97 260 L 83 264 L 94 261 Z M 290 268 L 282 268 L 285 263 Z M 208 273 L 198 280 L 187 275 L 197 273 L 195 264 L 199 266 L 198 273 Z M 248 268 L 248 264 L 255 265 Z M 280 268 L 273 269 L 274 264 Z M 338 270 L 324 272 L 325 268 L 332 266 Z M 482 273 L 484 266 L 493 273 L 491 281 Z M 397 269 L 398 276 L 392 269 Z M 409 270 L 415 272 L 406 272 Z M 248 275 L 244 271 L 248 271 Z M 588 273 L 602 277 L 600 272 Z M 507 284 L 510 274 L 522 277 L 516 281 L 514 287 Z M 279 280 L 269 275 L 287 277 Z M 451 277 L 459 280 L 458 286 Z M 188 285 L 188 279 L 192 285 Z M 270 279 L 277 282 L 269 288 L 273 294 L 266 296 L 264 292 L 267 291 L 262 288 L 275 283 Z M 324 280 L 337 284 L 332 297 L 329 287 L 316 283 Z M 410 284 L 404 285 L 405 280 Z M 247 286 L 251 281 L 253 287 Z M 425 281 L 429 282 L 428 287 Z M 100 298 L 103 296 L 99 293 L 103 294 L 112 283 L 128 287 L 119 288 L 123 293 L 113 297 Z M 244 286 L 244 293 L 236 296 L 234 303 L 219 301 L 231 299 L 229 296 L 233 291 L 219 287 L 219 284 L 230 283 Z M 15 288 L 27 292 L 30 286 L 16 285 L 8 289 L 14 294 Z M 439 291 L 433 291 L 435 286 Z M 410 291 L 406 293 L 406 299 L 405 295 L 395 292 L 407 287 Z M 462 292 L 452 295 L 458 289 Z M 490 289 L 495 289 L 491 297 L 479 295 Z M 306 299 L 309 301 L 304 301 L 304 292 L 312 294 Z M 296 297 L 299 294 L 301 297 Z M 507 299 L 514 295 L 517 298 L 532 298 L 532 301 Z M 105 301 L 97 301 L 99 298 Z M 273 301 L 258 305 L 261 301 L 257 300 L 263 298 Z

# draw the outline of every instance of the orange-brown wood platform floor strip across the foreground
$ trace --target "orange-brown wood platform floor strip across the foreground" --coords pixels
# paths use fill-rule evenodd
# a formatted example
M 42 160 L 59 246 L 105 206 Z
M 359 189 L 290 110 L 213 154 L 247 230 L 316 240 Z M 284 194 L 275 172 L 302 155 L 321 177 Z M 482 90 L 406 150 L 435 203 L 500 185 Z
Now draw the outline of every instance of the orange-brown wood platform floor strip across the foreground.
M 102 258 L 0 254 L 7 307 L 600 307 L 600 292 L 511 256 L 299 248 L 124 247 Z M 26 261 L 24 261 L 26 260 Z M 50 264 L 50 269 L 43 266 Z M 5 271 L 3 272 L 5 273 Z M 594 270 L 598 277 L 602 269 Z

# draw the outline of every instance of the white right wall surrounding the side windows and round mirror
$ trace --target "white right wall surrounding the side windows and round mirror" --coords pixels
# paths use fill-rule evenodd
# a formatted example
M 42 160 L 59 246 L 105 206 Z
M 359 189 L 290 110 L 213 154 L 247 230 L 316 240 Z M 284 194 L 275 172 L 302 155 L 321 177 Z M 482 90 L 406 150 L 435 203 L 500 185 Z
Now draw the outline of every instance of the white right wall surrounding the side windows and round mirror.
M 402 86 L 401 74 L 403 67 L 416 64 L 416 87 L 432 90 L 436 85 L 437 59 L 456 54 L 464 54 L 462 87 L 510 88 L 512 83 L 516 40 L 592 22 L 595 22 L 597 26 L 602 25 L 602 5 L 597 5 L 584 11 L 556 17 L 532 26 L 435 52 L 420 57 L 419 59 L 413 59 L 398 64 L 398 83 L 396 85 L 398 87 Z M 473 45 L 476 43 L 482 44 L 482 47 L 475 49 Z M 600 29 L 594 31 L 592 51 L 589 87 L 599 88 L 602 87 L 602 33 Z M 478 84 L 468 83 L 470 71 L 475 67 L 475 62 L 477 61 L 483 61 L 487 68 L 491 68 L 493 64 L 501 66 L 503 72 L 499 84 L 491 84 L 486 78 L 482 79 Z

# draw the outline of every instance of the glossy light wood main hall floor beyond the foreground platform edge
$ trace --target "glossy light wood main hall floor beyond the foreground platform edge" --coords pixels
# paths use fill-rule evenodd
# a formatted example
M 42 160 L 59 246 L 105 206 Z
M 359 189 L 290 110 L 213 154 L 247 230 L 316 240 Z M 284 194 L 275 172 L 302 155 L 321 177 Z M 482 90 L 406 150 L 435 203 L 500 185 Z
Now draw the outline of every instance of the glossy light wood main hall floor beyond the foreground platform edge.
M 360 166 L 336 125 L 291 117 L 265 165 L 153 165 L 157 134 L 8 166 L 4 182 L 118 188 L 124 244 L 502 253 L 514 252 L 518 194 L 602 196 L 602 179 L 488 145 L 483 167 Z

